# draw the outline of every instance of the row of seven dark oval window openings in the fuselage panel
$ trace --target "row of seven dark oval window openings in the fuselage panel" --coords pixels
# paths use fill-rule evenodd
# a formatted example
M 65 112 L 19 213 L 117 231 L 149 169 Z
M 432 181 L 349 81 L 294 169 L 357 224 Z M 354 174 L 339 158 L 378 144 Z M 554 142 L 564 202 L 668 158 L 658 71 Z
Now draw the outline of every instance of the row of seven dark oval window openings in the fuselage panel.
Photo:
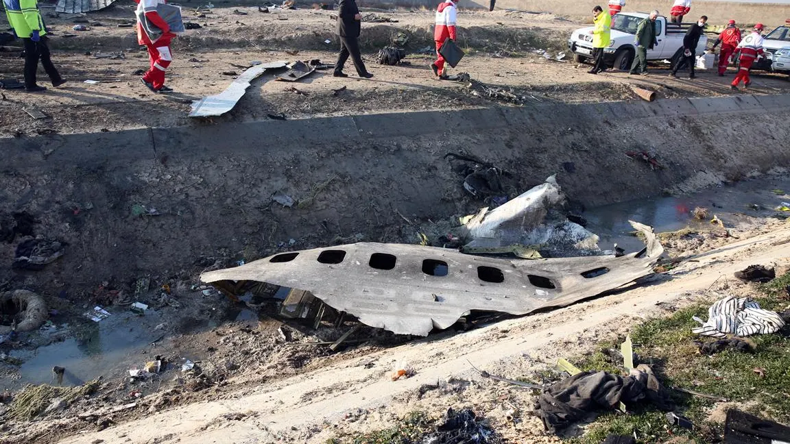
M 345 255 L 346 252 L 344 250 L 324 250 L 321 252 L 321 254 L 318 254 L 318 262 L 321 262 L 322 264 L 339 264 L 340 262 L 343 262 Z M 269 259 L 269 262 L 291 262 L 296 258 L 296 256 L 299 256 L 299 253 L 292 252 L 277 254 L 273 258 Z M 371 254 L 371 259 L 367 262 L 367 265 L 370 265 L 373 269 L 389 270 L 395 268 L 396 262 L 397 258 L 393 254 L 374 253 Z M 447 265 L 447 262 L 439 261 L 437 259 L 423 259 L 423 273 L 427 274 L 428 276 L 447 276 L 449 271 L 450 267 Z M 598 277 L 608 272 L 608 268 L 600 267 L 589 270 L 585 273 L 581 273 L 581 276 L 589 279 L 592 277 Z M 486 265 L 480 265 L 477 267 L 477 277 L 483 282 L 491 282 L 493 284 L 501 284 L 505 281 L 505 273 L 502 273 L 501 269 L 489 267 Z M 529 283 L 538 288 L 557 288 L 554 282 L 552 282 L 551 279 L 547 277 L 537 276 L 534 274 L 528 274 L 527 277 L 529 278 Z

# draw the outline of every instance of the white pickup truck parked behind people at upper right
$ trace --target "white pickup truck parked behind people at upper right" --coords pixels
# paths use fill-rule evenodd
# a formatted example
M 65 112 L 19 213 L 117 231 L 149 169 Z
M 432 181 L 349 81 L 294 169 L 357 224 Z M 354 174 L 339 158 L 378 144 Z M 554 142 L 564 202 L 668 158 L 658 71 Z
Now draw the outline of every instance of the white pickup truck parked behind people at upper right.
M 649 14 L 647 13 L 618 13 L 611 17 L 611 40 L 604 48 L 604 60 L 608 66 L 613 66 L 617 70 L 630 70 L 631 63 L 634 62 L 636 47 L 634 39 L 639 23 Z M 658 46 L 647 51 L 648 60 L 664 60 L 672 58 L 679 47 L 683 47 L 683 36 L 690 24 L 668 23 L 667 17 L 659 16 L 656 18 L 656 40 Z M 574 53 L 574 62 L 584 62 L 587 58 L 592 58 L 592 26 L 579 28 L 570 35 L 568 48 Z M 697 45 L 697 55 L 702 55 L 708 44 L 708 38 L 703 34 L 699 38 Z

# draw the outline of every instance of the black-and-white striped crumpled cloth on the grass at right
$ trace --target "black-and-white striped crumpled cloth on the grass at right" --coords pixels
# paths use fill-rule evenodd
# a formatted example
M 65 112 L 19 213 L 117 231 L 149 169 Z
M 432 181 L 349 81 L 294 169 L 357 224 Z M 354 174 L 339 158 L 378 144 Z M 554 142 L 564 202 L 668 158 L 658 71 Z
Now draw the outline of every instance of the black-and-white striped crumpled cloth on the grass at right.
M 754 299 L 735 296 L 727 296 L 710 306 L 707 322 L 702 322 L 696 316 L 694 321 L 702 326 L 691 331 L 710 337 L 725 337 L 728 333 L 739 337 L 771 334 L 784 327 L 784 321 L 779 314 L 763 310 Z

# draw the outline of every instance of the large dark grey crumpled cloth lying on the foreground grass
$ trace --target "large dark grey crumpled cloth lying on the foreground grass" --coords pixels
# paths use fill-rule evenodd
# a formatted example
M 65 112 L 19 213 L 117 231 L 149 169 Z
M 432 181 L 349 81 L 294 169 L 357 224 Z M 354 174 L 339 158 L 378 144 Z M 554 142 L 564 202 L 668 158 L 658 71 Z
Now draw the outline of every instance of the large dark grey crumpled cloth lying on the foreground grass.
M 597 410 L 649 401 L 661 410 L 674 405 L 653 370 L 640 364 L 625 378 L 605 371 L 582 371 L 555 382 L 540 394 L 535 407 L 547 431 L 555 432 Z

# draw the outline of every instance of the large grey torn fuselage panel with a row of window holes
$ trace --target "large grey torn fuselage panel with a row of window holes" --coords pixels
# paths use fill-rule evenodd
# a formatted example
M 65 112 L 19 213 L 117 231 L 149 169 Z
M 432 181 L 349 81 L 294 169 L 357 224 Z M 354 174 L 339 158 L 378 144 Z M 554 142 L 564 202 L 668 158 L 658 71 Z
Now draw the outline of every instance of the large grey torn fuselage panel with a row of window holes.
M 653 273 L 664 248 L 653 228 L 631 224 L 645 235 L 645 254 L 529 261 L 483 258 L 432 246 L 352 243 L 276 254 L 236 268 L 203 273 L 201 280 L 257 280 L 299 288 L 336 310 L 355 315 L 366 325 L 427 336 L 431 329 L 450 327 L 470 310 L 528 314 L 546 307 L 564 307 Z M 338 264 L 318 262 L 319 255 L 327 250 L 342 250 L 345 257 Z M 298 253 L 295 258 L 288 256 L 294 253 Z M 371 267 L 374 253 L 395 256 L 394 268 Z M 292 260 L 279 262 L 288 258 Z M 447 275 L 423 273 L 425 259 L 445 262 Z M 479 267 L 499 270 L 503 281 L 482 280 Z M 608 273 L 583 276 L 603 268 Z M 545 288 L 547 281 L 555 288 Z

